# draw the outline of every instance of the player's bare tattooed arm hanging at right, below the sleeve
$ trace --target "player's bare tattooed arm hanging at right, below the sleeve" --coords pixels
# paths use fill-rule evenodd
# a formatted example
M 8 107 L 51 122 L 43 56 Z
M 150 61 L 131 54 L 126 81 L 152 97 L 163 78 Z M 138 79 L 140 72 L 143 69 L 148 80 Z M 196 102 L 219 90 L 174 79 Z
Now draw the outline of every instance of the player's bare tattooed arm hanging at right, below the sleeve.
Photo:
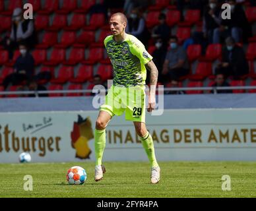
M 158 69 L 154 61 L 150 60 L 145 64 L 146 69 L 150 71 L 150 89 L 148 96 L 148 112 L 151 112 L 156 106 L 156 84 L 158 79 Z

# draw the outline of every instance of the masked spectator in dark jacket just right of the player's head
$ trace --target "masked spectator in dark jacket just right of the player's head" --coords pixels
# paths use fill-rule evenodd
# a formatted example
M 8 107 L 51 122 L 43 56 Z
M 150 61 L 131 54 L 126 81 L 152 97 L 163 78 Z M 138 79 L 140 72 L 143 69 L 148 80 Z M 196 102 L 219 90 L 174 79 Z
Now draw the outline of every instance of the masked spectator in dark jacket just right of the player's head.
M 147 46 L 149 33 L 146 28 L 145 20 L 139 13 L 139 9 L 133 9 L 127 20 L 126 32 L 141 40 Z

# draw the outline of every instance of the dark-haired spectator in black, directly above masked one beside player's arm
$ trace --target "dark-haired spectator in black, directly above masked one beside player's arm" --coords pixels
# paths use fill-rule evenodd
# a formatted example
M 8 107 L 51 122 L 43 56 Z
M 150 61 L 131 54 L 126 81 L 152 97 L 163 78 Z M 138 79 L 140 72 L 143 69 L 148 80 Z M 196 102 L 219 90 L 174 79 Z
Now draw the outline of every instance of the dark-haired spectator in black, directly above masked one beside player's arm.
M 166 45 L 170 38 L 171 28 L 166 24 L 166 15 L 164 13 L 160 13 L 158 20 L 159 24 L 152 30 L 152 38 L 161 38 L 164 45 Z

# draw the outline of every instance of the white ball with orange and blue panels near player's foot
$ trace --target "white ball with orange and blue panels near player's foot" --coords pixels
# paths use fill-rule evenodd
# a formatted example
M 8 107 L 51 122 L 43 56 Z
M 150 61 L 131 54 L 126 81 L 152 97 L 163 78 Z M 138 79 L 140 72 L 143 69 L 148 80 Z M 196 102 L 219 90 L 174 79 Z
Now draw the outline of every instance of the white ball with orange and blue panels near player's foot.
M 86 180 L 86 171 L 80 166 L 73 166 L 66 175 L 69 185 L 82 185 Z

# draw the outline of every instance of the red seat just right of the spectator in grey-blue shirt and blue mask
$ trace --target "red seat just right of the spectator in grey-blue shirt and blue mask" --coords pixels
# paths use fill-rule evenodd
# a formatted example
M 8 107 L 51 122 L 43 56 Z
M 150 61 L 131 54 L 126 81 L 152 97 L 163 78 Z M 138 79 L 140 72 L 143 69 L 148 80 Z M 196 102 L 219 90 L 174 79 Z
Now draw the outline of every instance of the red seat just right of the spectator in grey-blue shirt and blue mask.
M 195 74 L 189 76 L 190 80 L 203 80 L 212 74 L 212 63 L 199 62 Z

